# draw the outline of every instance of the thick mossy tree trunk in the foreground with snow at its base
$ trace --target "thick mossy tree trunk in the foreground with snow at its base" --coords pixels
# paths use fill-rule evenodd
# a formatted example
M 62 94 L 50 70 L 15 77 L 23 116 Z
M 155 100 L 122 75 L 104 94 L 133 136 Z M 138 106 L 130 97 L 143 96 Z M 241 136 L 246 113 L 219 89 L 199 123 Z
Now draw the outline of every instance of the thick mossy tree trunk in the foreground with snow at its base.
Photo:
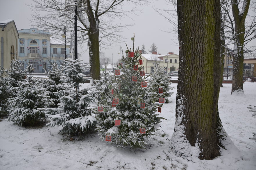
M 199 158 L 209 160 L 221 154 L 222 125 L 218 112 L 221 23 L 220 12 L 216 12 L 220 11 L 220 1 L 178 0 L 177 9 L 180 63 L 172 141 L 176 146 L 189 142 L 199 147 Z

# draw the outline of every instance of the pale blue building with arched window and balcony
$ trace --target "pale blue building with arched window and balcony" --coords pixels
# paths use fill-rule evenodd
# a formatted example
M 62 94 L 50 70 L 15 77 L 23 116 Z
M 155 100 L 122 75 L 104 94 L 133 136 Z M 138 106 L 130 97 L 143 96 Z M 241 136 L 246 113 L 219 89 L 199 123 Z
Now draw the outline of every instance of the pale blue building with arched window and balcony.
M 65 48 L 65 44 L 51 44 L 52 34 L 49 31 L 30 28 L 18 30 L 18 33 L 18 59 L 23 63 L 23 69 L 30 63 L 34 73 L 44 73 L 51 62 L 61 65 L 69 58 L 69 45 Z

